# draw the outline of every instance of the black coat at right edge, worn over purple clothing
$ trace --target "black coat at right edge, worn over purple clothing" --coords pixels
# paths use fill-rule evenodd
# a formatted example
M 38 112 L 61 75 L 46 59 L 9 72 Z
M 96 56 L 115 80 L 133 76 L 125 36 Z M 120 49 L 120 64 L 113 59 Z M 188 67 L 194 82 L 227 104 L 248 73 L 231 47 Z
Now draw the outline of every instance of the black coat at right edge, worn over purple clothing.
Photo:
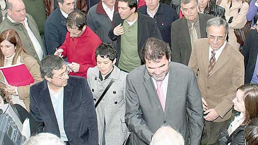
M 250 83 L 254 73 L 254 68 L 258 52 L 258 33 L 257 30 L 250 30 L 241 53 L 245 62 L 245 84 Z M 255 72 L 256 73 L 256 72 Z

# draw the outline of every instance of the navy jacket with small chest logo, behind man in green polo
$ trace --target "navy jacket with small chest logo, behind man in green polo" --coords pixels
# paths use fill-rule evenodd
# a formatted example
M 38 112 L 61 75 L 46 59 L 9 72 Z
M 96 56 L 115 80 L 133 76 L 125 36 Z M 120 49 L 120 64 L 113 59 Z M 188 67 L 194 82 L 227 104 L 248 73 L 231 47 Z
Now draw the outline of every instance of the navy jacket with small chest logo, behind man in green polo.
M 140 7 L 137 11 L 148 16 L 146 5 Z M 169 44 L 171 44 L 171 23 L 178 18 L 179 17 L 173 8 L 166 4 L 159 3 L 159 8 L 153 19 L 159 28 L 163 41 Z

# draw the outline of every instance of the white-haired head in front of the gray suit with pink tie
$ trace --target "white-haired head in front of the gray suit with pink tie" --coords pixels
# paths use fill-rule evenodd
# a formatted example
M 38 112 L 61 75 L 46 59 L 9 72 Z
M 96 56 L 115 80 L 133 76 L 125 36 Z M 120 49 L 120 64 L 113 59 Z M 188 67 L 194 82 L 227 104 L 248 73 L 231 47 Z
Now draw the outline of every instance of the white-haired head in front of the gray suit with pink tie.
M 152 137 L 150 145 L 184 145 L 183 136 L 168 125 L 160 127 Z

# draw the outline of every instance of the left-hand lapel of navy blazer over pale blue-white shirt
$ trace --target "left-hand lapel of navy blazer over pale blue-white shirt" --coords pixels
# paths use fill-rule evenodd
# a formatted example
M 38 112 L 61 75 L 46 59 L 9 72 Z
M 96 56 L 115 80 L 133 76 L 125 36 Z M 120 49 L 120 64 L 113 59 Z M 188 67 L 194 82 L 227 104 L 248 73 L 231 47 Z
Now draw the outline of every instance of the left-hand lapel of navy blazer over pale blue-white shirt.
M 43 90 L 40 92 L 41 98 L 42 98 L 43 102 L 45 103 L 45 107 L 47 109 L 47 112 L 49 112 L 50 117 L 52 118 L 54 123 L 58 126 L 57 119 L 55 116 L 55 111 L 54 111 L 52 101 L 50 98 L 50 93 L 49 93 L 49 90 L 47 87 L 47 81 L 44 81 L 42 88 L 43 88 Z

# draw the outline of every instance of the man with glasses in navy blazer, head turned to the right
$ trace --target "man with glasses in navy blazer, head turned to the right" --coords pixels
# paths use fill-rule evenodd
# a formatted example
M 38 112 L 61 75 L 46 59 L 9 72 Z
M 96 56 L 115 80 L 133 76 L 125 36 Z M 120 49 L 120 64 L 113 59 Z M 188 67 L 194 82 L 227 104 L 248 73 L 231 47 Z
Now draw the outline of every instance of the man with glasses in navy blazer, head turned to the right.
M 45 80 L 30 87 L 30 114 L 40 132 L 55 134 L 66 144 L 97 145 L 97 117 L 86 79 L 68 76 L 64 60 L 54 55 L 41 61 L 40 71 Z

